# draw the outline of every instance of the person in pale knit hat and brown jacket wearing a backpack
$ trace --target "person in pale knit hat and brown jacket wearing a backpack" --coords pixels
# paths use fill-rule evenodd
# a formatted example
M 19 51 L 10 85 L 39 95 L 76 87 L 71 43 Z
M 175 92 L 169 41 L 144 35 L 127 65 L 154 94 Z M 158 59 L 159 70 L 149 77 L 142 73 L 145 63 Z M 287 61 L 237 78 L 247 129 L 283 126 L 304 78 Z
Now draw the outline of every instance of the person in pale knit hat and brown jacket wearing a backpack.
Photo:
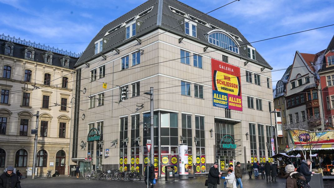
M 294 165 L 287 165 L 285 172 L 287 173 L 284 176 L 287 179 L 285 183 L 286 188 L 310 188 L 310 186 L 307 185 L 305 177 L 301 173 L 295 172 Z

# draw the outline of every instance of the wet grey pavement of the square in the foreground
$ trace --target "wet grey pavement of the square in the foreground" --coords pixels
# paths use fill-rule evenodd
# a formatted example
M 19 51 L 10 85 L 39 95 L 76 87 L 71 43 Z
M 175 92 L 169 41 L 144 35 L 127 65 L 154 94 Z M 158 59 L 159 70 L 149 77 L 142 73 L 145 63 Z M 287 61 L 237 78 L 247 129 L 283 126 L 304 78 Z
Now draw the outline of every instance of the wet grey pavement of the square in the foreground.
M 178 180 L 171 182 L 160 181 L 157 182 L 155 188 L 204 188 L 205 177 L 189 179 L 189 180 Z M 265 179 L 242 179 L 244 188 L 285 188 L 285 179 L 277 178 L 277 182 L 267 182 Z M 75 177 L 51 177 L 37 178 L 37 179 L 22 179 L 22 188 L 104 188 L 104 187 L 121 187 L 121 188 L 137 188 L 146 187 L 144 181 L 119 181 L 119 180 L 89 180 L 75 178 Z M 218 188 L 223 188 L 223 181 L 218 185 Z M 334 188 L 334 181 L 324 181 L 324 188 Z

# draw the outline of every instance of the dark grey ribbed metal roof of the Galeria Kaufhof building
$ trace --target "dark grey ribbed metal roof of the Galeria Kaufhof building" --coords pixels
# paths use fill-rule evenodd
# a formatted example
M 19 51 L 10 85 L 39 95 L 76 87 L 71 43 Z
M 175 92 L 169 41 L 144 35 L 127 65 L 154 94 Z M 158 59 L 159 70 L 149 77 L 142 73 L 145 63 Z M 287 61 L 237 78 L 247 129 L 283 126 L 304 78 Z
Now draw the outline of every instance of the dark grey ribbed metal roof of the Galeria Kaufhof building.
M 162 3 L 162 5 L 161 5 Z M 122 24 L 123 22 L 125 22 L 126 20 L 130 19 L 133 16 L 138 15 L 139 13 L 141 13 L 142 11 L 153 7 L 152 11 L 142 17 L 139 18 L 140 21 L 143 22 L 143 24 L 140 27 L 140 30 L 137 32 L 136 36 L 140 37 L 141 35 L 144 35 L 148 32 L 151 32 L 152 30 L 155 30 L 157 28 L 162 28 L 164 30 L 170 30 L 170 32 L 173 32 L 175 34 L 178 34 L 180 36 L 185 36 L 190 40 L 194 40 L 196 42 L 200 42 L 204 45 L 210 45 L 210 43 L 208 43 L 208 39 L 205 36 L 205 34 L 207 34 L 209 31 L 213 30 L 211 27 L 207 27 L 205 25 L 202 24 L 197 24 L 197 38 L 194 37 L 189 37 L 186 36 L 184 33 L 184 30 L 182 29 L 181 26 L 179 25 L 179 20 L 184 19 L 185 17 L 176 14 L 174 12 L 172 12 L 169 8 L 169 6 L 174 7 L 178 10 L 181 10 L 187 14 L 190 14 L 191 16 L 194 17 L 198 17 L 203 15 L 204 13 L 196 10 L 186 4 L 183 4 L 177 0 L 149 0 L 145 3 L 143 3 L 142 5 L 138 6 L 137 8 L 131 10 L 130 12 L 126 13 L 125 15 L 117 18 L 116 20 L 112 21 L 111 23 L 107 24 L 106 26 L 104 26 L 101 31 L 93 38 L 93 40 L 90 42 L 90 44 L 88 45 L 88 47 L 86 48 L 86 50 L 83 52 L 83 54 L 81 55 L 81 57 L 78 59 L 77 63 L 75 64 L 75 67 L 81 65 L 83 62 L 92 60 L 95 57 L 98 57 L 99 55 L 94 55 L 94 43 L 96 41 L 98 41 L 99 39 L 101 39 L 102 37 L 104 37 L 105 33 L 114 28 L 115 26 Z M 161 9 L 159 9 L 158 7 L 160 6 Z M 161 12 L 160 12 L 161 11 Z M 160 20 L 161 18 L 161 20 Z M 232 33 L 236 36 L 238 36 L 241 41 L 238 41 L 240 46 L 243 45 L 249 45 L 252 46 L 251 44 L 247 44 L 248 41 L 244 38 L 244 36 L 238 31 L 238 29 L 236 29 L 235 27 L 232 27 L 220 20 L 217 20 L 209 15 L 203 15 L 201 17 L 199 17 L 200 20 L 203 20 L 217 28 L 221 28 L 229 33 Z M 161 23 L 161 25 L 158 25 L 159 23 Z M 174 28 L 176 27 L 176 28 Z M 114 31 L 113 33 L 109 34 L 106 36 L 106 38 L 110 39 L 107 46 L 103 49 L 102 54 L 111 51 L 113 48 L 117 48 L 118 46 L 121 46 L 127 42 L 130 42 L 132 40 L 135 39 L 128 39 L 128 40 L 124 40 L 125 39 L 125 26 L 123 26 L 122 28 Z M 240 56 L 244 59 L 250 60 L 256 64 L 259 64 L 261 66 L 264 67 L 268 67 L 270 69 L 272 69 L 272 67 L 269 65 L 269 63 L 258 53 L 258 51 L 256 51 L 256 61 L 252 60 L 252 59 L 248 59 L 247 57 L 247 51 L 243 50 L 241 47 L 239 47 L 239 55 L 235 54 L 233 52 L 230 52 L 228 50 L 225 49 L 221 49 L 220 47 L 217 46 L 213 46 L 213 48 L 219 49 L 221 51 L 224 51 L 226 53 L 230 53 L 232 55 L 236 55 L 236 56 Z

